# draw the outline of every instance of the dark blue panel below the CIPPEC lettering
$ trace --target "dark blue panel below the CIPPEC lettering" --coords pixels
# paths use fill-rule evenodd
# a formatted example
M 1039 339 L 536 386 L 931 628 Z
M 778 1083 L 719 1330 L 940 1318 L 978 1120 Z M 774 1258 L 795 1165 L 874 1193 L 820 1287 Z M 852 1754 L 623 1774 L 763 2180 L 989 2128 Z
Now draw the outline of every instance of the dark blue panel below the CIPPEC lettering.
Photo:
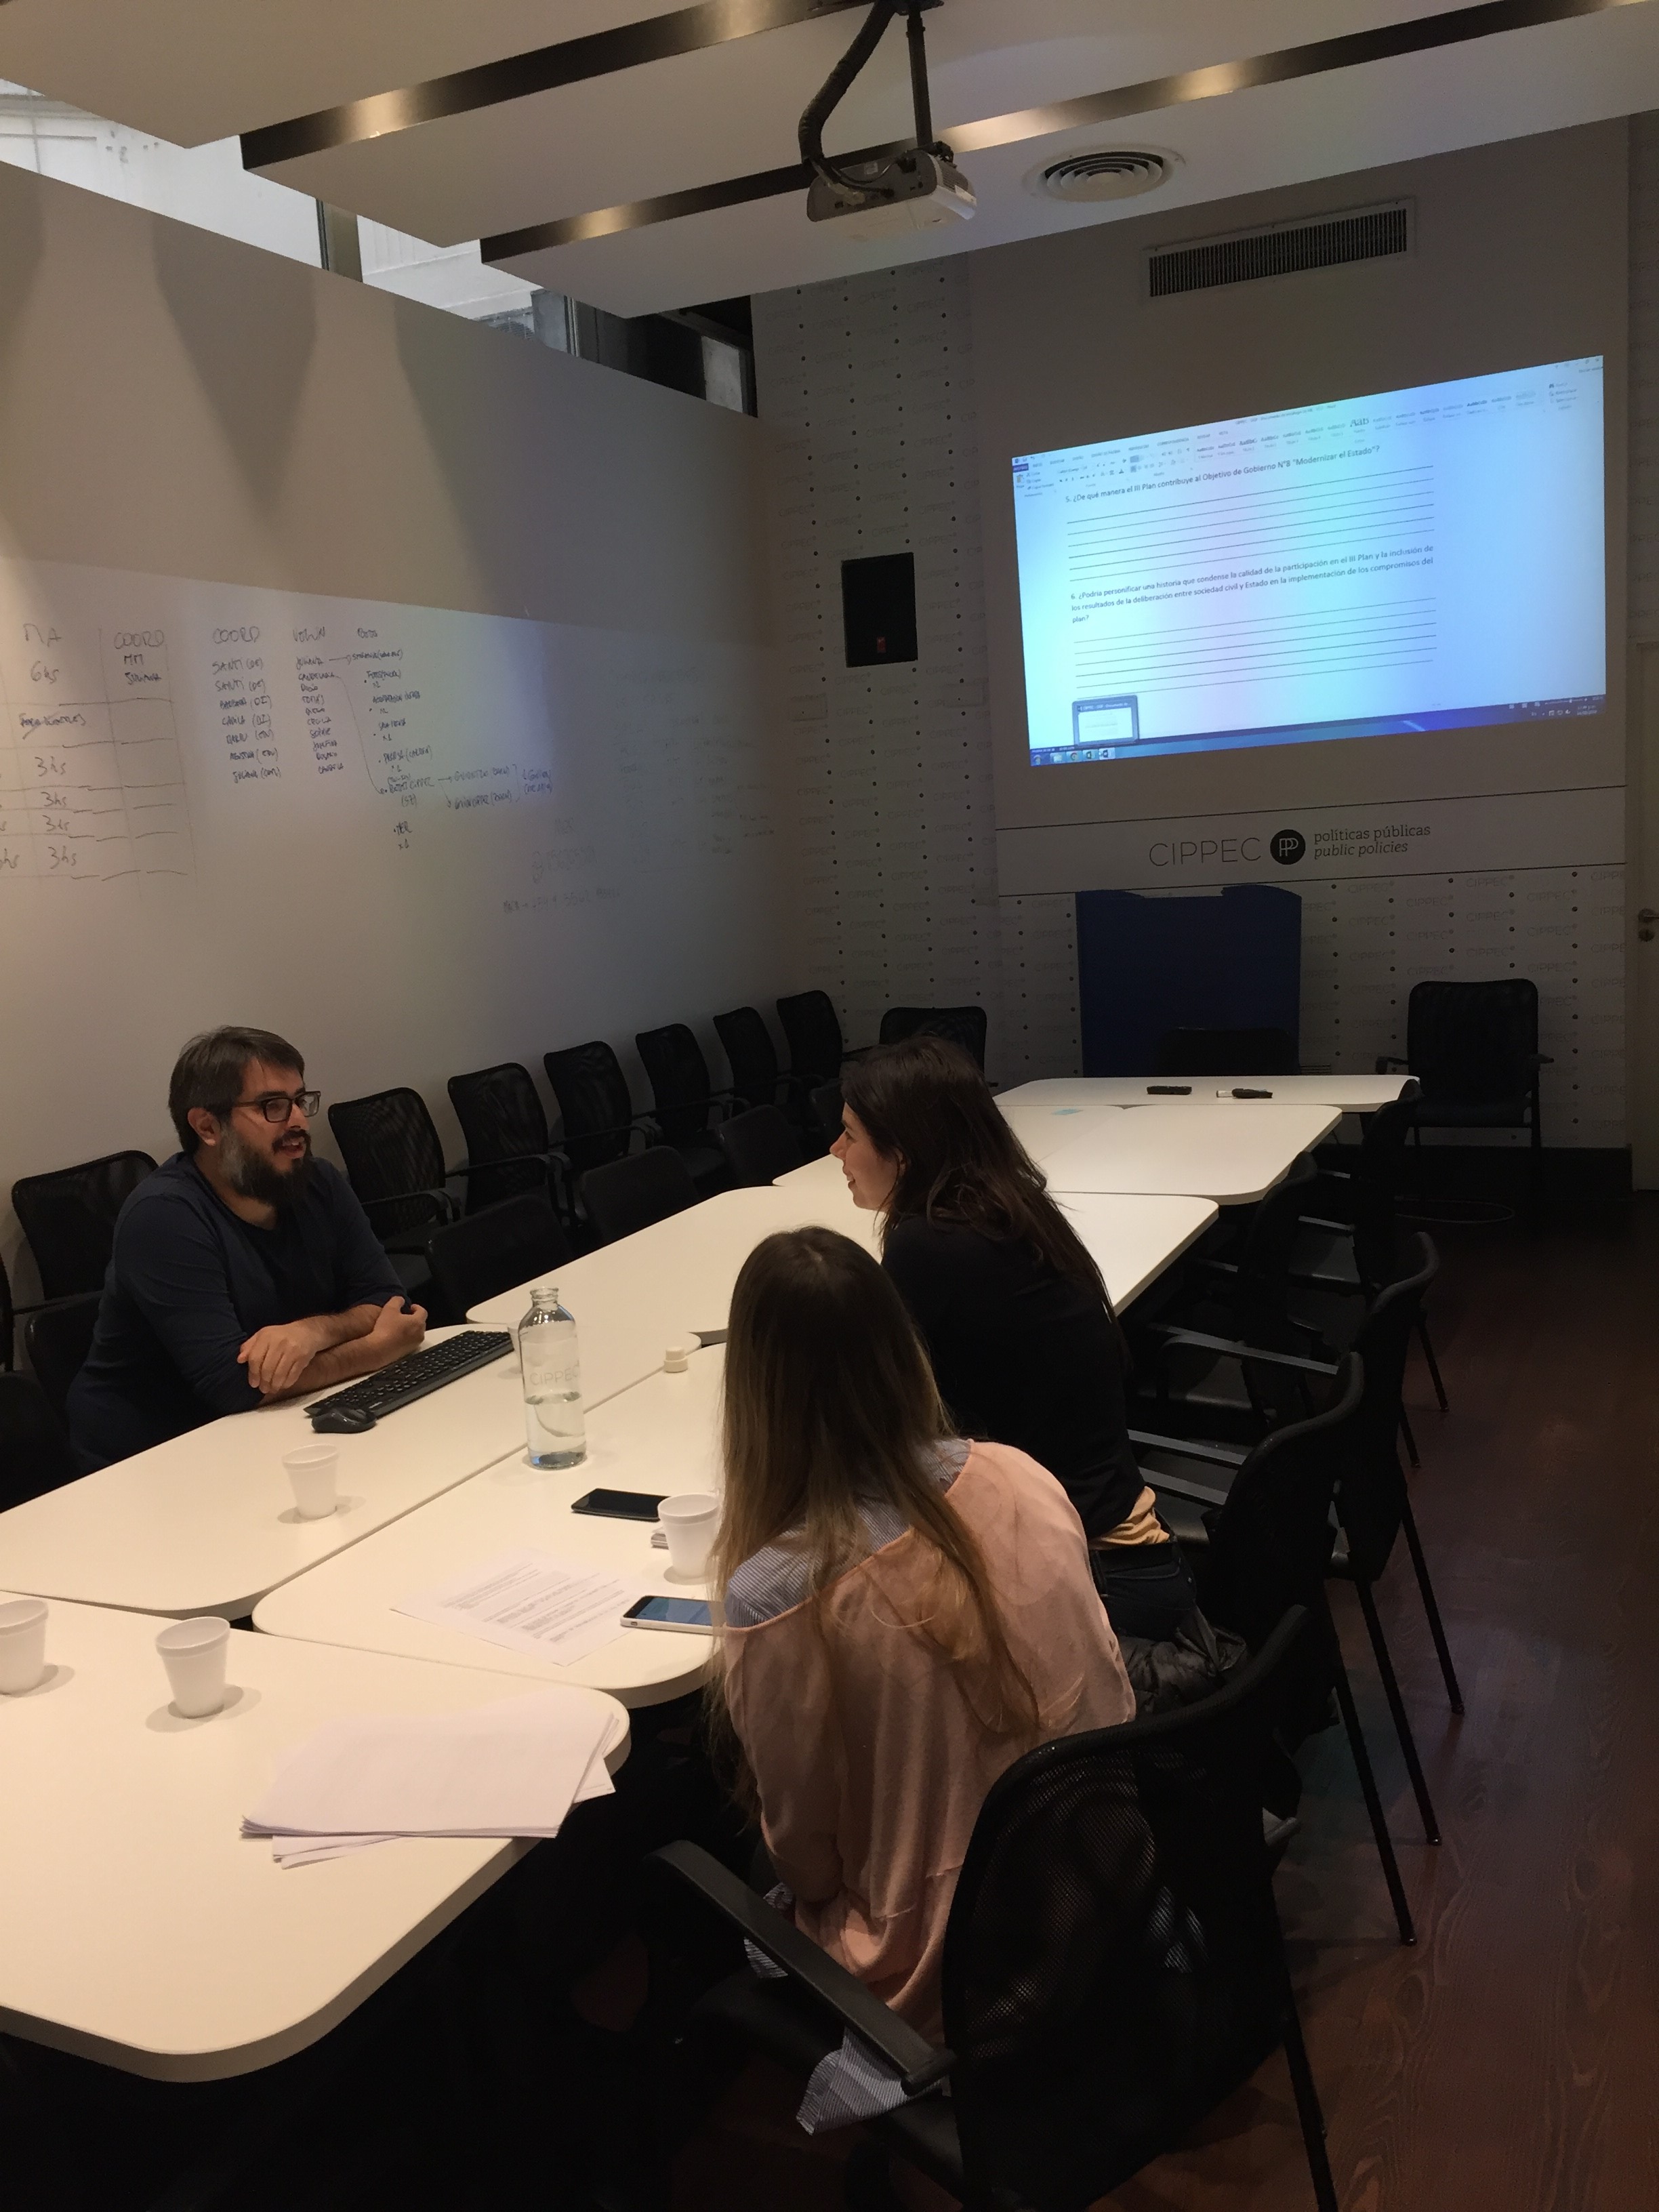
M 1084 1075 L 1146 1075 L 1168 1029 L 1301 1031 L 1303 902 L 1272 883 L 1210 898 L 1077 894 Z

